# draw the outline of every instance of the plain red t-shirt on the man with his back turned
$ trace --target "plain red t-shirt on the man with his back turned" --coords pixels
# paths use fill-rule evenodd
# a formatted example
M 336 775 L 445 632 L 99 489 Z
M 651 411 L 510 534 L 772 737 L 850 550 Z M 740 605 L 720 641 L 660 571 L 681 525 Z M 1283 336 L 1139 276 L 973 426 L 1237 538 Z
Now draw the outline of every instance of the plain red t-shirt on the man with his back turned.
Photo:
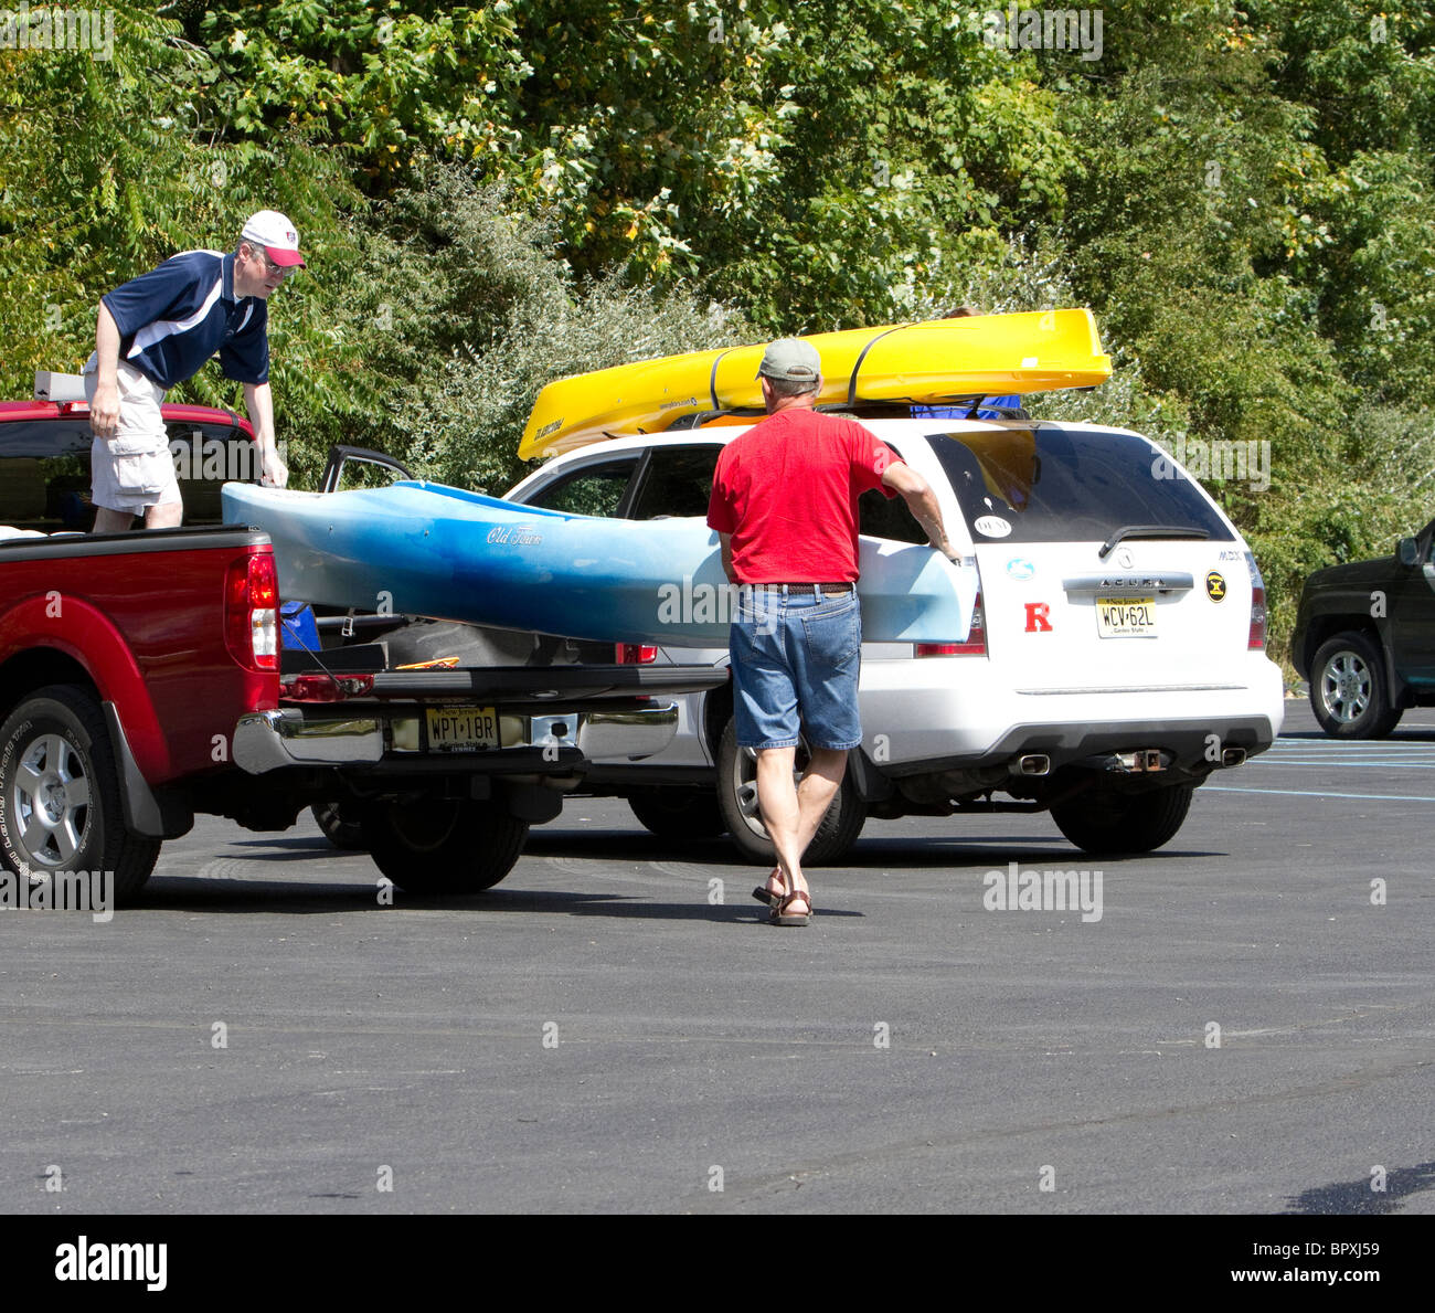
M 779 410 L 718 458 L 707 524 L 732 534 L 742 584 L 857 578 L 857 499 L 901 459 L 860 423 L 806 408 Z

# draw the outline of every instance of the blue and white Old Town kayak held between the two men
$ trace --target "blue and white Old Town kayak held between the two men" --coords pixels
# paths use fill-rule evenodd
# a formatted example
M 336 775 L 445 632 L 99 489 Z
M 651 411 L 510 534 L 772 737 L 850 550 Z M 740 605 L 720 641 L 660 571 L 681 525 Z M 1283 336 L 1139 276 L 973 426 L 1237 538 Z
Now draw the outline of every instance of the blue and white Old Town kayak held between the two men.
M 222 499 L 225 524 L 273 540 L 284 598 L 571 639 L 728 644 L 735 590 L 700 518 L 567 515 L 408 481 L 353 492 L 225 484 Z M 976 571 L 865 537 L 860 570 L 868 641 L 966 639 Z

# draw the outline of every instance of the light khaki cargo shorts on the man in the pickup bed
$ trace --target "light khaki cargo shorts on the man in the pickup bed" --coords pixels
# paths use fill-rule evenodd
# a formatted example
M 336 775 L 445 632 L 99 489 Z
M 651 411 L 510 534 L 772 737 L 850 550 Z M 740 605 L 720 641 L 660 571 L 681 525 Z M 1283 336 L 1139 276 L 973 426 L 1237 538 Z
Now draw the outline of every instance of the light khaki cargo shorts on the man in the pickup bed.
M 99 366 L 85 362 L 85 400 L 95 405 Z M 90 445 L 90 499 L 109 511 L 144 515 L 151 507 L 181 501 L 169 436 L 161 412 L 165 393 L 152 379 L 123 360 L 115 370 L 119 387 L 119 429 Z

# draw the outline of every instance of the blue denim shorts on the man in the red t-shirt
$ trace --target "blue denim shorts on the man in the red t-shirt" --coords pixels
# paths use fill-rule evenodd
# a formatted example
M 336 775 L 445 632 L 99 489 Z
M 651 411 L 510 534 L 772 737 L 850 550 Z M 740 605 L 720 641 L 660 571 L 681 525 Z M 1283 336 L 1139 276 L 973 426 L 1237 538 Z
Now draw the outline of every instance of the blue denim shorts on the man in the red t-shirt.
M 842 597 L 742 588 L 729 634 L 733 719 L 742 748 L 855 748 L 862 617 Z

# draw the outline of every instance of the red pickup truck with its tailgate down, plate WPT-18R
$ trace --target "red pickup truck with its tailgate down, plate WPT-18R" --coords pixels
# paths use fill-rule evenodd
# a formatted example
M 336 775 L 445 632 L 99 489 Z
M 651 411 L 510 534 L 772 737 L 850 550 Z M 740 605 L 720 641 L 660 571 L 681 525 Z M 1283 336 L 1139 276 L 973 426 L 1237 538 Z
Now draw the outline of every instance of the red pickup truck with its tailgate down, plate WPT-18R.
M 225 461 L 257 474 L 248 426 L 202 408 L 165 418 L 212 456 L 181 481 L 187 514 L 217 514 Z M 660 695 L 712 682 L 525 636 L 507 662 L 435 669 L 412 659 L 422 640 L 403 649 L 403 617 L 379 641 L 340 618 L 323 649 L 283 649 L 264 534 L 75 532 L 89 442 L 83 405 L 0 403 L 0 862 L 20 880 L 113 872 L 123 900 L 197 814 L 286 829 L 342 802 L 396 885 L 488 888 L 593 761 L 669 742 L 677 710 Z M 475 717 L 497 748 L 451 733 Z

